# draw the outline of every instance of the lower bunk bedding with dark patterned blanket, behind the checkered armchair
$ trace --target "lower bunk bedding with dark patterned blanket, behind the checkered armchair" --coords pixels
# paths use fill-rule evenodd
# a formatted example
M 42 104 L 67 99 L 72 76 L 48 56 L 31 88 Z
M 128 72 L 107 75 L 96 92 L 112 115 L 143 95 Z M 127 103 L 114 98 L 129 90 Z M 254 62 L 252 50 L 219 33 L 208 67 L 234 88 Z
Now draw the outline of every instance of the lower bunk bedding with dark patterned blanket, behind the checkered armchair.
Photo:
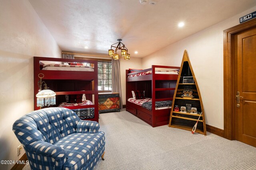
M 92 105 L 90 100 L 86 100 L 82 103 L 67 103 L 63 102 L 58 107 L 71 107 L 71 106 L 88 106 Z M 92 119 L 94 118 L 94 107 L 82 108 L 82 109 L 72 109 L 80 119 Z

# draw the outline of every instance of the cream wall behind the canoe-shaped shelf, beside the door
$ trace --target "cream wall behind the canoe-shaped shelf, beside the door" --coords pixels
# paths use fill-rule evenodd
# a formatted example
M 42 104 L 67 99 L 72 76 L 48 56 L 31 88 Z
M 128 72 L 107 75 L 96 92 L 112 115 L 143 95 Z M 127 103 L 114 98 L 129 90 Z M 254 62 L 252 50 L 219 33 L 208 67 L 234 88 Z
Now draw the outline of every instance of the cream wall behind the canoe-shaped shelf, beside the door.
M 255 10 L 256 6 L 144 57 L 142 67 L 149 68 L 152 63 L 180 66 L 186 49 L 202 95 L 206 124 L 224 129 L 223 31 Z M 189 29 L 189 25 L 182 29 Z

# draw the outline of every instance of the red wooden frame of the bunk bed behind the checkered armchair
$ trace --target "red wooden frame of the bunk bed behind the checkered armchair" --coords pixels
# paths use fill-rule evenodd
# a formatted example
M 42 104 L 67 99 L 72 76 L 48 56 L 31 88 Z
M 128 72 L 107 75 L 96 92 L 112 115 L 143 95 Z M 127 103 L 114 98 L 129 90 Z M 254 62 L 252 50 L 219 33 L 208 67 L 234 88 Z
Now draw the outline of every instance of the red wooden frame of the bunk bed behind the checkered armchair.
M 41 62 L 42 61 L 42 62 Z M 94 64 L 94 71 L 66 71 L 66 70 L 42 70 L 44 61 L 52 61 L 52 62 L 67 62 L 67 63 L 91 63 Z M 49 58 L 49 57 L 34 57 L 34 109 L 38 110 L 40 107 L 36 106 L 36 94 L 38 93 L 38 81 L 40 78 L 38 74 L 44 74 L 44 78 L 42 81 L 45 81 L 48 87 L 52 89 L 50 84 L 47 83 L 47 80 L 56 80 L 56 81 L 87 81 L 90 84 L 87 85 L 87 89 L 81 91 L 54 91 L 56 93 L 56 106 L 49 107 L 57 107 L 57 96 L 58 95 L 66 95 L 66 94 L 86 94 L 86 99 L 92 101 L 92 95 L 94 95 L 94 104 L 92 105 L 84 105 L 84 106 L 68 106 L 68 109 L 83 109 L 83 108 L 91 108 L 94 107 L 94 118 L 86 119 L 91 121 L 97 121 L 99 118 L 98 113 L 98 63 L 97 61 L 89 61 L 89 60 L 77 60 L 77 59 L 61 59 L 61 58 Z M 80 83 L 78 82 L 78 83 Z M 78 84 L 77 83 L 77 84 Z M 42 87 L 43 88 L 43 87 Z M 89 90 L 88 90 L 89 88 Z M 89 97 L 88 97 L 89 96 Z M 64 102 L 64 101 L 62 101 Z

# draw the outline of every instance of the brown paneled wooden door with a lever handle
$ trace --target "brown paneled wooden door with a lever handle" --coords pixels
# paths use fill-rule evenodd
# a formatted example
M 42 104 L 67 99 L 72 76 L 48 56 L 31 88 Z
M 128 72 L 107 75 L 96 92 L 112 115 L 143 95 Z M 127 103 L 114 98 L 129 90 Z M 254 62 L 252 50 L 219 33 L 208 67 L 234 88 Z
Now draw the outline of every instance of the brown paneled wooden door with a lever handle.
M 256 28 L 234 37 L 235 139 L 256 147 Z

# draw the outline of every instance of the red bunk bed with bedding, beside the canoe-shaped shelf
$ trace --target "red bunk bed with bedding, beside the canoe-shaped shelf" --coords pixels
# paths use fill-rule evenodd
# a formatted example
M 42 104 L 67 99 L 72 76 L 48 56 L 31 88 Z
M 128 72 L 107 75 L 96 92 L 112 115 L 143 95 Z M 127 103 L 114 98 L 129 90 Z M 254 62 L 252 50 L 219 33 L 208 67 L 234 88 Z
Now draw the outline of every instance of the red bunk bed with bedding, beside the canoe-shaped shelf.
M 152 127 L 167 125 L 180 67 L 152 65 L 145 70 L 126 70 L 126 111 Z M 133 92 L 143 92 L 135 99 Z

